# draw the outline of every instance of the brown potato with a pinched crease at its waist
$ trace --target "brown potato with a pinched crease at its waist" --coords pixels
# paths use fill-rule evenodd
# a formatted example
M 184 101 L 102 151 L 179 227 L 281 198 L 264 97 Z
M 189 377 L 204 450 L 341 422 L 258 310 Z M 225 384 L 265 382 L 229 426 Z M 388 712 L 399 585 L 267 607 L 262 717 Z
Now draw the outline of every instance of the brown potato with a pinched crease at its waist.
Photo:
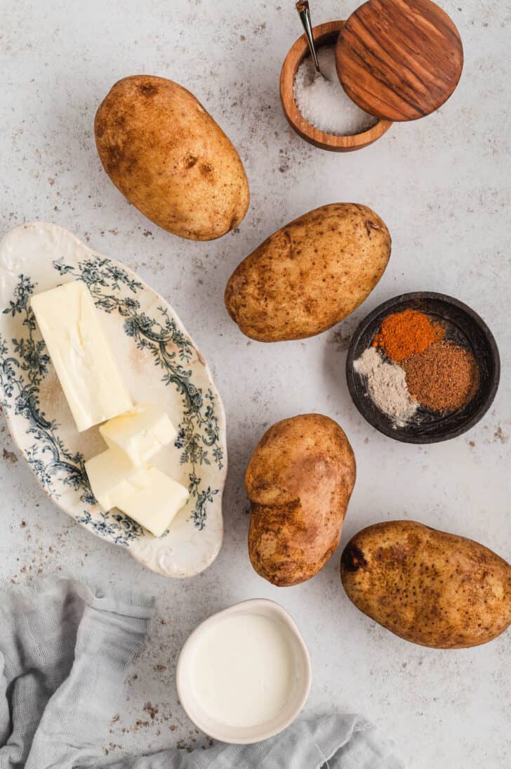
M 303 414 L 267 430 L 245 474 L 257 574 L 280 587 L 314 577 L 339 544 L 355 476 L 353 450 L 332 419 Z

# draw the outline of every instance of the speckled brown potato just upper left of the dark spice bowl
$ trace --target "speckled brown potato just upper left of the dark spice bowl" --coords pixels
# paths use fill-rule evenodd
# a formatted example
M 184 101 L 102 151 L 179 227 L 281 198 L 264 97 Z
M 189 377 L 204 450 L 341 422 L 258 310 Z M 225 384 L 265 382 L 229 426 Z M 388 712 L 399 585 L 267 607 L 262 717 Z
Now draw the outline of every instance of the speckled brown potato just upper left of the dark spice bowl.
M 257 341 L 327 331 L 360 305 L 383 275 L 390 234 L 365 205 L 332 203 L 270 235 L 234 270 L 225 306 Z

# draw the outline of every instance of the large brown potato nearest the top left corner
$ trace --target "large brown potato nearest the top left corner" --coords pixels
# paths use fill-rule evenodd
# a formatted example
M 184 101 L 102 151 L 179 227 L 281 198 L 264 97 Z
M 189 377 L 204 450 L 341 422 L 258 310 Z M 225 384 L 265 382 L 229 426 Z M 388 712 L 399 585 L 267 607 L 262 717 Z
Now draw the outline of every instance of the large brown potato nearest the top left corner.
M 231 141 L 178 83 L 153 75 L 119 80 L 98 108 L 95 138 L 114 185 L 151 221 L 182 238 L 220 238 L 249 204 Z

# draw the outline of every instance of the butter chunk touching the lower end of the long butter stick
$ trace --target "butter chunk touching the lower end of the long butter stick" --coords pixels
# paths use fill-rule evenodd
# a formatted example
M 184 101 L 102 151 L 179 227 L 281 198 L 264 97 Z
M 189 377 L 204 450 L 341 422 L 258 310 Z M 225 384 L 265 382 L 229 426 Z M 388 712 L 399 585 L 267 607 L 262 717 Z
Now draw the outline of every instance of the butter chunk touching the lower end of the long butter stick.
M 122 451 L 135 468 L 147 464 L 178 431 L 168 414 L 151 403 L 141 403 L 99 428 L 108 448 Z

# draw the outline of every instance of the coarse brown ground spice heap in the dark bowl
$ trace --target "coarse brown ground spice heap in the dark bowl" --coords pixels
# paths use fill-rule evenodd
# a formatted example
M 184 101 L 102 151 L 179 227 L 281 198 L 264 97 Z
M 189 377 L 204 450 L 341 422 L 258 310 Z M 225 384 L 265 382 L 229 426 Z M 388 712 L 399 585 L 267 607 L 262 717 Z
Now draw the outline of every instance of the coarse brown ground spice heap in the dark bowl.
M 479 367 L 460 345 L 437 341 L 403 362 L 410 395 L 433 411 L 456 411 L 472 400 L 479 387 Z

